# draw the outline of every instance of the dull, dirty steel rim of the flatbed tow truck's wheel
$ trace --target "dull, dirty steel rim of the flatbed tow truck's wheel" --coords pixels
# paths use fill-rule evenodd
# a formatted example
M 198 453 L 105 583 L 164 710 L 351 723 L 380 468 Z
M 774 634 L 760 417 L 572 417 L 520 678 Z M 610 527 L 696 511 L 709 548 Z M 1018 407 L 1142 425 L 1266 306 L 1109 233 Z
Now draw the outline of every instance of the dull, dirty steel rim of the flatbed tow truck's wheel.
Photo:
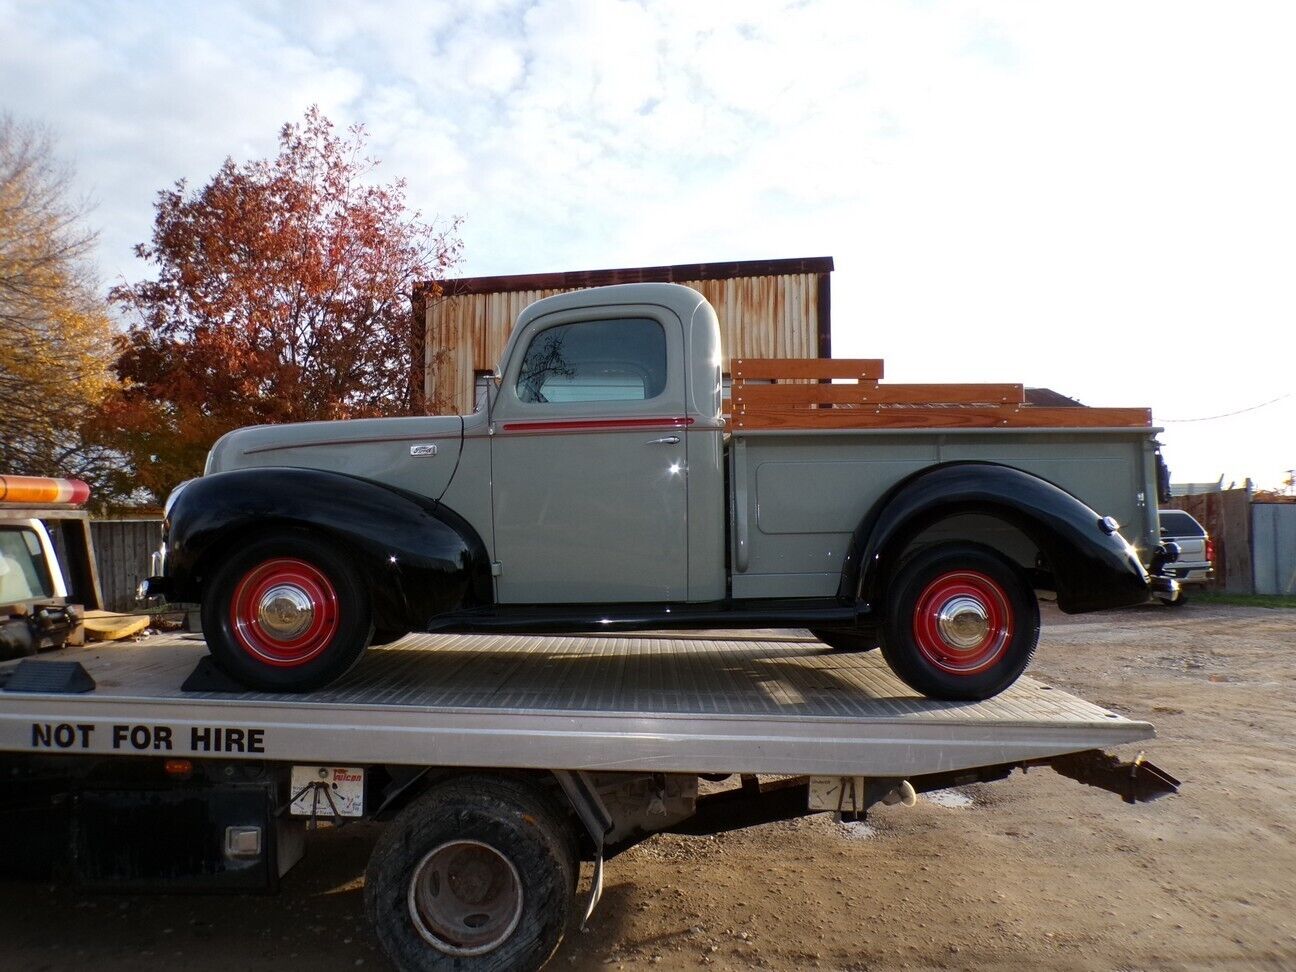
M 447 955 L 498 949 L 522 920 L 522 879 L 513 862 L 477 840 L 429 850 L 410 877 L 410 918 Z

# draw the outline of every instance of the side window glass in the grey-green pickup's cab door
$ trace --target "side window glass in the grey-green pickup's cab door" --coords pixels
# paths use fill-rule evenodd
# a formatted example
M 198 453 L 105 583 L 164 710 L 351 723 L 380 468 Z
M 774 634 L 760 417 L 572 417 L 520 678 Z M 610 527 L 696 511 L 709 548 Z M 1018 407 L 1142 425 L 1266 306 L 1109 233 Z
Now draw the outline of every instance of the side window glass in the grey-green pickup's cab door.
M 522 402 L 639 402 L 666 388 L 666 333 L 651 318 L 583 320 L 531 338 L 517 375 Z

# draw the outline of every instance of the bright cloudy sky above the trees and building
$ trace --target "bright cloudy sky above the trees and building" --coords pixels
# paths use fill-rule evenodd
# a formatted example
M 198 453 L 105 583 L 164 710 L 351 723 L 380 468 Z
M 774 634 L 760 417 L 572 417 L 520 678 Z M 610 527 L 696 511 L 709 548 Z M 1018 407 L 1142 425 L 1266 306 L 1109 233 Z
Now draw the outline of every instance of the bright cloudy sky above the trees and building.
M 1293 49 L 1245 0 L 0 0 L 0 111 L 75 165 L 105 283 L 314 102 L 465 218 L 464 273 L 831 255 L 839 356 L 1150 404 L 1175 481 L 1274 486 Z

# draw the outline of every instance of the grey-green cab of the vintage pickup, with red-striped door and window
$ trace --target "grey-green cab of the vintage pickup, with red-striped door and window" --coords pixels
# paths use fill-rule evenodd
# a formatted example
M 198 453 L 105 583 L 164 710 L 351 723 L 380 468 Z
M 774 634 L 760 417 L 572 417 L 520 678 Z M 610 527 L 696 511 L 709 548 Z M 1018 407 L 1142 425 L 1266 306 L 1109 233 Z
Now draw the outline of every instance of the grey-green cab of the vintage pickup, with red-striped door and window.
M 481 416 L 499 603 L 721 599 L 715 312 L 687 288 L 600 297 L 524 314 Z

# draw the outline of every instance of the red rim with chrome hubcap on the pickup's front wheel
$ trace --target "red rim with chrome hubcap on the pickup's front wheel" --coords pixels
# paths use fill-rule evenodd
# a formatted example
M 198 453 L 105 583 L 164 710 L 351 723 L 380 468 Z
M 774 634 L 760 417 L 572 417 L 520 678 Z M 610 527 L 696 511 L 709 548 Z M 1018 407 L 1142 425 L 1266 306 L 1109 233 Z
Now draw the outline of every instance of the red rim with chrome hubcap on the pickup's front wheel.
M 254 566 L 229 601 L 235 640 L 257 661 L 276 667 L 318 657 L 333 640 L 337 619 L 333 583 L 319 568 L 290 557 Z

